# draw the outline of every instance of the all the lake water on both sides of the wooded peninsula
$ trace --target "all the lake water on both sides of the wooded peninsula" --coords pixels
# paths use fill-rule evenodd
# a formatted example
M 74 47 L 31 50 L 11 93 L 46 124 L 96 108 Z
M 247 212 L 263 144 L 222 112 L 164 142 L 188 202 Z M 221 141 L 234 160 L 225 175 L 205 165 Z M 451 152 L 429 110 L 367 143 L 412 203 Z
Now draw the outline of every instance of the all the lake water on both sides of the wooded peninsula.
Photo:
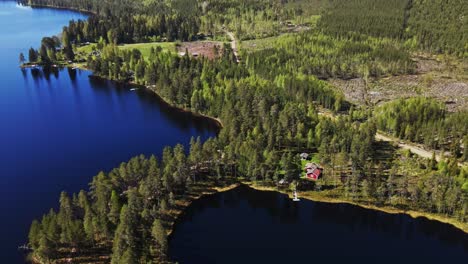
M 21 70 L 20 52 L 85 14 L 0 1 L 0 262 L 24 263 L 29 225 L 62 190 L 139 154 L 159 155 L 212 122 L 154 94 L 70 69 Z M 195 201 L 179 219 L 170 254 L 181 263 L 458 263 L 468 237 L 424 218 L 346 204 L 292 202 L 246 186 Z

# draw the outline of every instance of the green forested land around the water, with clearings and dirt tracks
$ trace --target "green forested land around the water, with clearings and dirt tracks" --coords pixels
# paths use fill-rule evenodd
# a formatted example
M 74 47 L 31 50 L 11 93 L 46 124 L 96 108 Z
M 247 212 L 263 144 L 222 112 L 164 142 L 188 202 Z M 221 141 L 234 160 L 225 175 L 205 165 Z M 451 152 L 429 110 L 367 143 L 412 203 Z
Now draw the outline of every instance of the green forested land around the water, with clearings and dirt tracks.
M 23 4 L 93 14 L 44 37 L 25 65 L 81 65 L 222 121 L 215 138 L 132 158 L 99 173 L 89 190 L 63 192 L 58 210 L 31 225 L 33 262 L 170 262 L 175 216 L 203 193 L 239 182 L 418 212 L 468 232 L 467 98 L 426 90 L 452 79 L 468 83 L 464 1 Z M 437 67 L 426 67 L 429 60 Z M 384 84 L 410 86 L 409 77 L 418 80 L 414 94 L 372 101 Z M 362 84 L 356 100 L 346 89 L 355 82 Z M 431 158 L 413 153 L 415 146 Z M 318 180 L 302 177 L 308 161 L 301 153 L 320 166 Z

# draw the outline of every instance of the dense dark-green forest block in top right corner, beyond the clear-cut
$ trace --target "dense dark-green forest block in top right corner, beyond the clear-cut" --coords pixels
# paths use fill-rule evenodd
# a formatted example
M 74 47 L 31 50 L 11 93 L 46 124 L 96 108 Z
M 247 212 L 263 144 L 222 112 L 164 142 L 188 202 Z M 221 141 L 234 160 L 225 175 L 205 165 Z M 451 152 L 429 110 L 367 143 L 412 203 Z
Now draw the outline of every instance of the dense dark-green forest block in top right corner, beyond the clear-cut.
M 319 21 L 323 31 L 404 40 L 437 53 L 468 56 L 465 0 L 334 0 Z

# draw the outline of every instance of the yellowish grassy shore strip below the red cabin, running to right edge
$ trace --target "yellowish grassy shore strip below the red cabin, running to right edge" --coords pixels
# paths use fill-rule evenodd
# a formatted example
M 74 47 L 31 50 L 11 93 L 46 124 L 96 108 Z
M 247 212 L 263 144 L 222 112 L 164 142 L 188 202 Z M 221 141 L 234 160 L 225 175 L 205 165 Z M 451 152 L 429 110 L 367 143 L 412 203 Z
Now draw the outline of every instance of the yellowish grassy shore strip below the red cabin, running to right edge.
M 255 189 L 257 191 L 272 191 L 272 192 L 278 192 L 287 195 L 288 197 L 292 197 L 291 194 L 285 190 L 280 190 L 277 187 L 272 187 L 272 186 L 260 186 L 257 185 L 256 183 L 253 182 L 245 182 L 242 181 L 242 184 L 245 184 L 249 186 L 252 189 Z M 364 209 L 368 210 L 375 210 L 375 211 L 380 211 L 384 212 L 387 214 L 405 214 L 408 215 L 412 218 L 418 218 L 418 217 L 424 217 L 426 219 L 432 220 L 432 221 L 437 221 L 443 224 L 448 224 L 451 225 L 460 231 L 464 232 L 465 234 L 468 234 L 468 223 L 463 223 L 461 221 L 458 221 L 456 219 L 450 218 L 450 217 L 444 217 L 439 214 L 434 214 L 434 213 L 428 213 L 428 212 L 421 212 L 421 211 L 414 211 L 414 210 L 403 210 L 403 209 L 398 209 L 395 207 L 391 206 L 376 206 L 372 204 L 363 204 L 355 201 L 349 201 L 344 198 L 332 198 L 332 197 L 326 197 L 321 195 L 318 192 L 298 192 L 298 195 L 302 199 L 306 199 L 309 201 L 313 202 L 321 202 L 321 203 L 330 203 L 330 204 L 350 204 L 354 206 L 358 206 Z

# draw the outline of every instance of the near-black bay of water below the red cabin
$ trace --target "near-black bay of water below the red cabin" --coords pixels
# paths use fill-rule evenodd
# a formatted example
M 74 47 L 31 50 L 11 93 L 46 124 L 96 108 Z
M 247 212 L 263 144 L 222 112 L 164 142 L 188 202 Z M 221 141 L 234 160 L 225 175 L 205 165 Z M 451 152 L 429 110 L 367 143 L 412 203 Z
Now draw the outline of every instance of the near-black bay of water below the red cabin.
M 446 224 L 241 186 L 195 201 L 170 239 L 180 263 L 466 263 Z

